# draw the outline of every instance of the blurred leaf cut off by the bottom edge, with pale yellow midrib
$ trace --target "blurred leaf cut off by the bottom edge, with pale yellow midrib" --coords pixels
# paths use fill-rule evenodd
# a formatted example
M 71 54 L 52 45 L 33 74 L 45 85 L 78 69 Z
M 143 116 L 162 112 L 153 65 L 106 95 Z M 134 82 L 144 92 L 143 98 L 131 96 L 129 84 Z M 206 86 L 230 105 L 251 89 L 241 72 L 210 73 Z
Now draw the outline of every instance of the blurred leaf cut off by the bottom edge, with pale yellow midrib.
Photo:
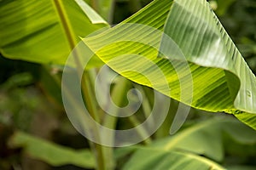
M 125 164 L 124 170 L 148 169 L 224 169 L 217 163 L 202 156 L 177 151 L 142 148 Z

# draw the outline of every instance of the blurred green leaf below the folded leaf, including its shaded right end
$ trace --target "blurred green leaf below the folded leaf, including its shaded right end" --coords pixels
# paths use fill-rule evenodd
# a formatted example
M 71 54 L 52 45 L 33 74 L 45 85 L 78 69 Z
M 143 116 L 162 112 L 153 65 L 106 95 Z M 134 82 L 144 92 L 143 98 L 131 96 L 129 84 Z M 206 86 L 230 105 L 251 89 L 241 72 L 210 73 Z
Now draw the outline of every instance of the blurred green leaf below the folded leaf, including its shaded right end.
M 152 146 L 162 150 L 185 150 L 223 161 L 225 154 L 224 134 L 238 144 L 256 145 L 256 132 L 231 116 L 216 116 L 204 122 L 197 122 L 166 139 L 156 141 Z

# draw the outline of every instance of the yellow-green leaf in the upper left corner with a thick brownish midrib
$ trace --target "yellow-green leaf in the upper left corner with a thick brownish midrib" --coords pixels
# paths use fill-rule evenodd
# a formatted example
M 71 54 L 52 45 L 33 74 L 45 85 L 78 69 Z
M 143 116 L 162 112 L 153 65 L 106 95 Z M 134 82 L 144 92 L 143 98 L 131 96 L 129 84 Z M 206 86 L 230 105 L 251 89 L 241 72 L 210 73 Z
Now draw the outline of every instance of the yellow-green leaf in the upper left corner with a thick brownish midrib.
M 106 21 L 83 0 L 4 0 L 0 2 L 0 53 L 10 59 L 64 65 L 79 37 L 104 26 Z M 95 59 L 90 64 L 102 62 Z

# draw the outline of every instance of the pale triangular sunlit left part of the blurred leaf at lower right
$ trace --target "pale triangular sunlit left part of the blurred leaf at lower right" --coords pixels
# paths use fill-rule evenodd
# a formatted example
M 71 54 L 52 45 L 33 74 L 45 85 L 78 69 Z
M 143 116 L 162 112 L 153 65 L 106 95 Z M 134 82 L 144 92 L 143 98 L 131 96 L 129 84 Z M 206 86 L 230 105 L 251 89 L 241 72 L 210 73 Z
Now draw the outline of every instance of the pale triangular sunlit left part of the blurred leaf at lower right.
M 222 161 L 224 150 L 219 124 L 220 122 L 212 120 L 198 122 L 177 135 L 156 141 L 153 146 L 162 150 L 186 150 L 215 161 Z

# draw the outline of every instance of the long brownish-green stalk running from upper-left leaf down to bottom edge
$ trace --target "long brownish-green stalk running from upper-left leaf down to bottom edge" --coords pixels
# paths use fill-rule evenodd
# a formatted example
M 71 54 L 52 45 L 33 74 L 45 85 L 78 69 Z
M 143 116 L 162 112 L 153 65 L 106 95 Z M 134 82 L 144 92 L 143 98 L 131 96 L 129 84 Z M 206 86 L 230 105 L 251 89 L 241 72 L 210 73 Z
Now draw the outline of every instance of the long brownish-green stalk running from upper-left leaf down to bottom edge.
M 71 50 L 73 50 L 73 48 L 75 48 L 76 46 L 76 39 L 73 34 L 72 26 L 70 25 L 69 20 L 67 18 L 67 14 L 63 6 L 63 3 L 61 0 L 54 0 L 53 3 L 55 5 L 57 13 L 59 14 L 61 25 L 63 27 L 63 30 L 65 31 L 67 40 L 69 42 L 69 47 Z M 77 69 L 79 69 L 80 71 L 84 70 L 83 65 L 80 65 L 78 52 L 74 51 L 73 54 L 74 54 L 75 63 L 77 65 Z M 85 72 L 82 77 L 81 88 L 84 94 L 84 100 L 88 107 L 88 111 L 90 112 L 91 116 L 96 120 L 96 122 L 99 122 L 99 117 L 97 116 L 97 111 L 96 111 L 96 105 L 94 105 L 93 94 L 90 88 L 90 77 L 88 76 L 88 72 Z M 96 138 L 100 139 L 99 130 L 95 129 L 94 133 L 96 135 Z M 106 164 L 108 162 L 105 161 L 102 145 L 94 144 L 94 147 L 96 150 L 95 156 L 97 161 L 97 169 L 98 170 L 107 169 Z

